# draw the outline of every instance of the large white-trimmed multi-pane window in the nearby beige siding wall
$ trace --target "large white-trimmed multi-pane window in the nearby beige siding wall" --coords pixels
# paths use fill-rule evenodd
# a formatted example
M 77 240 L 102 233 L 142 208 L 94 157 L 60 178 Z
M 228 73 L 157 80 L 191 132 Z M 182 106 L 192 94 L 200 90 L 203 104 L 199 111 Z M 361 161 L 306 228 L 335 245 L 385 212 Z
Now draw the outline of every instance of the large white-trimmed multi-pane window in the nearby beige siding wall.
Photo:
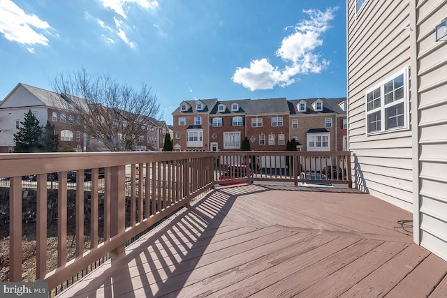
M 408 71 L 404 69 L 366 91 L 367 134 L 409 127 L 407 77 Z

